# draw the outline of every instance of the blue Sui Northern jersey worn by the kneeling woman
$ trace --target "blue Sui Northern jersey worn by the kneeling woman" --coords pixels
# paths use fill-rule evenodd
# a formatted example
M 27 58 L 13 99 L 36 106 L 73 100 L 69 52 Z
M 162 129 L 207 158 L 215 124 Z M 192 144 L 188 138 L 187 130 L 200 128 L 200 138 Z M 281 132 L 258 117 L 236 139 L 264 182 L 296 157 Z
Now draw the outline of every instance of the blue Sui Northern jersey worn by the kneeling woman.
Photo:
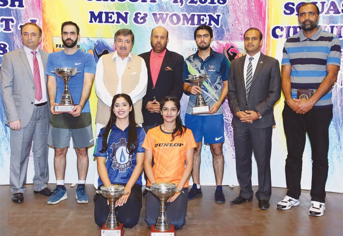
M 126 148 L 126 140 L 128 137 L 129 127 L 126 127 L 126 129 L 123 131 L 117 128 L 114 124 L 108 137 L 107 152 L 100 152 L 100 150 L 102 149 L 103 140 L 103 137 L 101 136 L 104 131 L 105 128 L 102 128 L 100 130 L 93 156 L 107 158 L 106 169 L 112 184 L 126 184 L 136 167 L 137 152 L 144 152 L 142 144 L 145 138 L 145 132 L 142 127 L 137 126 L 138 147 L 133 154 L 129 154 L 129 151 Z M 137 179 L 136 184 L 142 186 L 142 176 Z M 102 185 L 103 182 L 99 177 L 98 186 Z

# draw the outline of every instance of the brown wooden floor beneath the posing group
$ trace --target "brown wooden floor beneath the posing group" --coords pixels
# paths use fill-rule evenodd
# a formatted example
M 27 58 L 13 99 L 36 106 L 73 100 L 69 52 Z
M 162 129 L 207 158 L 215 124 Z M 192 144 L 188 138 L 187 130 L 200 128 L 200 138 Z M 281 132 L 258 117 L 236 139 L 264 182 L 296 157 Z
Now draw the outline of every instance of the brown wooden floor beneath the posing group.
M 33 193 L 27 185 L 23 204 L 11 202 L 10 187 L 0 186 L 1 236 L 100 236 L 94 223 L 94 188 L 86 186 L 88 204 L 78 204 L 75 188 L 66 185 L 68 199 L 57 205 L 47 205 L 47 197 Z M 55 188 L 55 184 L 49 184 Z M 303 191 L 300 205 L 289 210 L 276 209 L 286 189 L 273 188 L 271 207 L 260 210 L 258 202 L 233 206 L 229 201 L 239 193 L 239 187 L 224 186 L 227 203 L 214 203 L 214 187 L 203 186 L 202 198 L 190 201 L 186 225 L 176 236 L 343 236 L 343 194 L 327 193 L 325 214 L 308 215 L 309 191 Z M 254 187 L 256 191 L 256 187 Z M 167 212 L 168 213 L 168 212 Z M 125 236 L 149 236 L 144 222 L 145 198 L 141 218 L 133 229 L 125 229 Z

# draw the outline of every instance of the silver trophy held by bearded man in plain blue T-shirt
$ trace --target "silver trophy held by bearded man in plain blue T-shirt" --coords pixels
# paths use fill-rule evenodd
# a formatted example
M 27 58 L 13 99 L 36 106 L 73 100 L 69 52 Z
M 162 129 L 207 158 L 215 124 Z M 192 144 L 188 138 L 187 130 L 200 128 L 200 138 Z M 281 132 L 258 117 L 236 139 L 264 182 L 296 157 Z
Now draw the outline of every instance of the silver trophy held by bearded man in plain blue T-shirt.
M 55 112 L 66 113 L 71 112 L 71 110 L 73 110 L 75 105 L 69 92 L 69 80 L 77 73 L 81 73 L 81 71 L 77 71 L 77 69 L 78 68 L 55 67 L 55 71 L 51 72 L 55 73 L 58 77 L 61 77 L 61 79 L 64 82 L 64 91 L 61 100 L 59 101 L 59 104 L 55 106 Z

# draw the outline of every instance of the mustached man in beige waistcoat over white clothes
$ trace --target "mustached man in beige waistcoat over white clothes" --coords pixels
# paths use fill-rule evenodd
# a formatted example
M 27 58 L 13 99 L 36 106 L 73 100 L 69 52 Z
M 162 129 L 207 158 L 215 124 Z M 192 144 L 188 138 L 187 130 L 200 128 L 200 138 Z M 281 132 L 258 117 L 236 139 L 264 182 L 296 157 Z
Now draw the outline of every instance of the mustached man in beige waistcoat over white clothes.
M 96 136 L 110 119 L 110 107 L 115 94 L 126 93 L 133 102 L 136 123 L 143 123 L 142 102 L 146 93 L 147 69 L 143 58 L 131 53 L 135 36 L 130 29 L 114 34 L 114 53 L 103 55 L 95 72 L 95 91 L 98 95 Z M 97 173 L 94 176 L 97 187 Z

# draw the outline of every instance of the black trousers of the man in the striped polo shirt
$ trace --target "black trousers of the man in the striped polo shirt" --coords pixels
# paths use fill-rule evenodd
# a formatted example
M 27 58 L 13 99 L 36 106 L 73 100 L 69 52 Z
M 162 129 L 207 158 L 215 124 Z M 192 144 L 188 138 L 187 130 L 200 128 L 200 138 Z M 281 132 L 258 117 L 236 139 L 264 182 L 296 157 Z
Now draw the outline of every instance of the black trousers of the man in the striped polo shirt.
M 306 133 L 312 151 L 312 201 L 325 203 L 325 184 L 328 176 L 329 125 L 332 108 L 312 109 L 306 114 L 296 114 L 285 104 L 283 111 L 287 141 L 286 184 L 287 195 L 299 199 L 301 172 Z

